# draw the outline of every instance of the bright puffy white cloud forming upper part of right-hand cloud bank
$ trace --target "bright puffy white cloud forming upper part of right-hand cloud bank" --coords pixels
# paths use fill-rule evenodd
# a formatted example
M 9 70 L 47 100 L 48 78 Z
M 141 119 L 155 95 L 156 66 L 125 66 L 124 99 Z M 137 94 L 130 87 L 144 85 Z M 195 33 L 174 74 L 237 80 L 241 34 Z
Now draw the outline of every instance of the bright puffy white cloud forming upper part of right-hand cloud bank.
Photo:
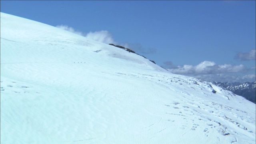
M 236 66 L 231 64 L 218 65 L 210 61 L 201 62 L 196 66 L 177 66 L 176 68 L 169 68 L 168 70 L 174 74 L 222 74 L 247 71 L 246 67 L 242 64 Z

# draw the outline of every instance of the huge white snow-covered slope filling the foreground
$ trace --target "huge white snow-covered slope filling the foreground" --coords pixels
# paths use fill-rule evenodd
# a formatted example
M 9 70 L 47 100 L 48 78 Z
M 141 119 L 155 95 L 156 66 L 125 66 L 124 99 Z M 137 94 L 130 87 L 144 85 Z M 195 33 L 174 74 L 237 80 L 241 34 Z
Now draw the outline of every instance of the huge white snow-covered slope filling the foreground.
M 255 144 L 242 96 L 60 28 L 0 22 L 1 144 Z

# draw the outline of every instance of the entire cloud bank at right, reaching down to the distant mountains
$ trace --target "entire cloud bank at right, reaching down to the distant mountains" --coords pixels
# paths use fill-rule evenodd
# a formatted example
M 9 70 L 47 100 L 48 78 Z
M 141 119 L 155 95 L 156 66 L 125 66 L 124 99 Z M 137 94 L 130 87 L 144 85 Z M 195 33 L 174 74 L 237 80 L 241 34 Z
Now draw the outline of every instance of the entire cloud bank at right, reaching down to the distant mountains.
M 203 61 L 196 66 L 184 65 L 174 66 L 172 62 L 164 62 L 167 70 L 174 74 L 182 74 L 206 81 L 216 82 L 254 82 L 255 75 L 248 74 L 252 68 L 247 69 L 244 65 L 216 64 L 211 61 Z

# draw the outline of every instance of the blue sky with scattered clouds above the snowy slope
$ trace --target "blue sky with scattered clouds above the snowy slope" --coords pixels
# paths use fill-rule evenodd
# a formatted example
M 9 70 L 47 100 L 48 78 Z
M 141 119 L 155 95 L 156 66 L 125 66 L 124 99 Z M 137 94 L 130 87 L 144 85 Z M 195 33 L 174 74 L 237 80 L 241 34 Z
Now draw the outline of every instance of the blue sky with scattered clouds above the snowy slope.
M 1 12 L 114 43 L 175 74 L 255 81 L 255 1 L 0 1 Z

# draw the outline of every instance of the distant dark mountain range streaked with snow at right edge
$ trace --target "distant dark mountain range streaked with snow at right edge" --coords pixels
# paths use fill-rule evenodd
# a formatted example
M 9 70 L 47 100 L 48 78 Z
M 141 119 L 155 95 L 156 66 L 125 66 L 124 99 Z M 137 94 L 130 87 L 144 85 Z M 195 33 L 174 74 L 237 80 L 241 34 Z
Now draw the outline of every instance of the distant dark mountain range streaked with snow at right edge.
M 230 90 L 234 94 L 243 96 L 247 100 L 256 103 L 256 81 L 255 82 L 212 82 L 225 90 Z

